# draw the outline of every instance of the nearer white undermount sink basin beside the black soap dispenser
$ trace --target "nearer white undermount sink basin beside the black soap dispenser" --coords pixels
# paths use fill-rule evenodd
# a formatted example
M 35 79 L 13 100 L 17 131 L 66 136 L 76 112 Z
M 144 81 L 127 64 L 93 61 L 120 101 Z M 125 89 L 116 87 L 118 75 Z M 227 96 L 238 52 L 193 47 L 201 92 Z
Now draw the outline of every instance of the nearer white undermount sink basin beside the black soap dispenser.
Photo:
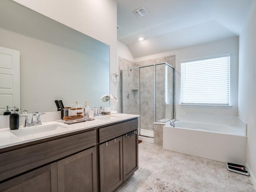
M 30 136 L 34 134 L 53 134 L 58 131 L 62 131 L 68 128 L 68 126 L 64 126 L 61 124 L 50 124 L 50 125 L 40 125 L 40 126 L 32 126 L 28 128 L 21 128 L 18 130 L 10 130 L 10 132 L 18 137 Z

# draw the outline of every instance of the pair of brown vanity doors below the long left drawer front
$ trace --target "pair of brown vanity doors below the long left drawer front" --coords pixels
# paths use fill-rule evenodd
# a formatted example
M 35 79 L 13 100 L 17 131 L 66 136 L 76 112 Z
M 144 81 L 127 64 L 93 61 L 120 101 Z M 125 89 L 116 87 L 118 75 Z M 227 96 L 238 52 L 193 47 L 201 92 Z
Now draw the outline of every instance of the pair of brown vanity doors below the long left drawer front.
M 0 184 L 1 192 L 97 192 L 96 147 Z

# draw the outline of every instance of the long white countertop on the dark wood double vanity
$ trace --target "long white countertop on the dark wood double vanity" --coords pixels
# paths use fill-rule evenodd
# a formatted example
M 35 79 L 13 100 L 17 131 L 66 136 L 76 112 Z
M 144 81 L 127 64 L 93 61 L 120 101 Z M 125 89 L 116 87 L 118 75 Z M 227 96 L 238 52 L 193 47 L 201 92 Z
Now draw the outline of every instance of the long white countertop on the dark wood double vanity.
M 89 128 L 94 128 L 114 122 L 119 122 L 122 120 L 128 120 L 131 118 L 139 117 L 139 115 L 132 114 L 111 114 L 107 116 L 96 117 L 95 120 L 86 121 L 75 124 L 64 124 L 62 122 L 42 122 L 42 125 L 39 126 L 31 126 L 31 127 L 23 127 L 20 126 L 18 130 L 10 130 L 10 128 L 2 128 L 0 129 L 0 149 L 15 146 L 19 144 L 24 144 L 27 142 L 32 142 L 36 140 L 41 140 L 44 138 L 50 138 L 53 136 L 58 136 L 62 134 L 67 134 L 71 132 L 76 132 L 79 130 L 86 130 Z M 34 134 L 22 134 L 21 130 L 25 132 L 33 132 L 34 130 L 38 130 L 40 128 L 44 128 L 44 126 L 52 125 L 58 127 L 56 130 L 50 130 L 46 132 L 35 132 Z M 34 129 L 34 130 L 32 130 Z M 18 136 L 17 136 L 18 135 Z

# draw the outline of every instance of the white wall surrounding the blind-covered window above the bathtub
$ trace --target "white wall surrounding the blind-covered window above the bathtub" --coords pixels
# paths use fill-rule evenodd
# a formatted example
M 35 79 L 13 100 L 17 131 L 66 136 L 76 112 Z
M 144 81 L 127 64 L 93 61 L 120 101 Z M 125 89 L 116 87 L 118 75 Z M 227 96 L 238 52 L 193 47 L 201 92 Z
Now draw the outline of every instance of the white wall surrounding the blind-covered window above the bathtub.
M 180 62 L 182 60 L 204 58 L 230 53 L 230 103 L 232 108 L 181 107 L 180 104 Z M 134 62 L 163 56 L 176 55 L 176 113 L 216 114 L 238 116 L 238 37 L 228 38 L 170 52 L 135 58 Z

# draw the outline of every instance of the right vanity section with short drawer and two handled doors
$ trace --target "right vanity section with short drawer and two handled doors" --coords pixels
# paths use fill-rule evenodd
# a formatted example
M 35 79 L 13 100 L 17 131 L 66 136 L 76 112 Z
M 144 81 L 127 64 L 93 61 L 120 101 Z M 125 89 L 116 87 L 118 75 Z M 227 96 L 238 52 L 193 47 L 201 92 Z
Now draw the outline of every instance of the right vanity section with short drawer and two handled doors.
M 138 170 L 138 119 L 100 128 L 99 141 L 100 192 L 113 192 Z

